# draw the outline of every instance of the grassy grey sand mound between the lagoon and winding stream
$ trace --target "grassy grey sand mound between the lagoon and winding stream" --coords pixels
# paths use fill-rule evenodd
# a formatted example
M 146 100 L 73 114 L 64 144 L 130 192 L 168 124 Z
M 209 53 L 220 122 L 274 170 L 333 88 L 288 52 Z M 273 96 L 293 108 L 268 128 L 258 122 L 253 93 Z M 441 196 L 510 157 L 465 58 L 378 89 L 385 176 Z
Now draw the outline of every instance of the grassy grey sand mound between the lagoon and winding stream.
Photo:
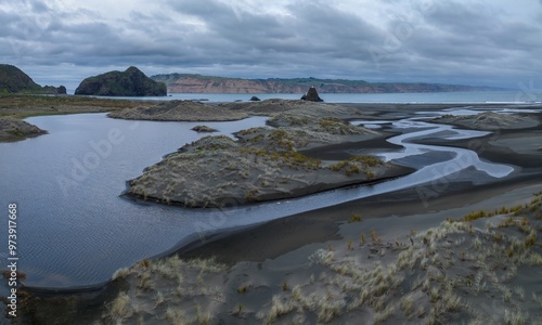
M 185 207 L 221 207 L 297 197 L 397 176 L 399 168 L 375 157 L 334 161 L 306 156 L 304 150 L 380 136 L 335 117 L 319 117 L 332 108 L 310 109 L 313 118 L 296 126 L 286 126 L 282 115 L 276 115 L 270 123 L 278 128 L 242 130 L 235 134 L 236 141 L 218 135 L 188 144 L 130 180 L 127 194 Z M 289 114 L 286 121 L 306 116 L 301 114 L 306 110 L 292 112 L 298 115 Z

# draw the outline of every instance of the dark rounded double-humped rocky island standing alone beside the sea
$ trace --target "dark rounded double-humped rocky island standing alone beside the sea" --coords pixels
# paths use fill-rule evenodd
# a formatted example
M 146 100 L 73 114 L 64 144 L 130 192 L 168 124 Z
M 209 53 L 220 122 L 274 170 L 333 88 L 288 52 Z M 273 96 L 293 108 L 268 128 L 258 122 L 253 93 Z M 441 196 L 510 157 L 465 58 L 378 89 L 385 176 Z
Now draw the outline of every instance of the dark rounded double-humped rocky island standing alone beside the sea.
M 137 67 L 89 77 L 77 87 L 76 95 L 165 96 L 166 84 L 154 81 Z

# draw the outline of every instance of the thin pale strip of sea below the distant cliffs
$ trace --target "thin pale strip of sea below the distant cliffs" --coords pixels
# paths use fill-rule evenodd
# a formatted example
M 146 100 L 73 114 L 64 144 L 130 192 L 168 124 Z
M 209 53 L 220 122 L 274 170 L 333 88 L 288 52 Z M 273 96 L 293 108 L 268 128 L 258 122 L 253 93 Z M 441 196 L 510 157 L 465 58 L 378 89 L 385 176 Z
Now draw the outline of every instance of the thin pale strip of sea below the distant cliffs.
M 302 94 L 292 93 L 171 93 L 166 98 L 122 98 L 145 101 L 197 100 L 208 102 L 246 102 L 251 96 L 260 100 L 299 100 Z M 470 91 L 428 93 L 320 93 L 327 103 L 511 103 L 540 104 L 542 92 L 518 91 Z M 120 98 L 115 98 L 120 99 Z

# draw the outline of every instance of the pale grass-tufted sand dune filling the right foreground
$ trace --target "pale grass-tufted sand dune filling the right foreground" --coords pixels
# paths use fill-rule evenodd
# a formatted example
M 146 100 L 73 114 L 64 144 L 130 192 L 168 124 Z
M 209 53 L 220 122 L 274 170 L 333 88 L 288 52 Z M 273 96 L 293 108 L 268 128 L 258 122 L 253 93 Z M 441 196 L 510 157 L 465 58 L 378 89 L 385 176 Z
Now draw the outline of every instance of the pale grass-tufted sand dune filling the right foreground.
M 453 217 L 395 239 L 362 232 L 305 260 L 296 256 L 289 269 L 176 256 L 142 261 L 115 273 L 129 286 L 100 322 L 540 323 L 542 195 Z

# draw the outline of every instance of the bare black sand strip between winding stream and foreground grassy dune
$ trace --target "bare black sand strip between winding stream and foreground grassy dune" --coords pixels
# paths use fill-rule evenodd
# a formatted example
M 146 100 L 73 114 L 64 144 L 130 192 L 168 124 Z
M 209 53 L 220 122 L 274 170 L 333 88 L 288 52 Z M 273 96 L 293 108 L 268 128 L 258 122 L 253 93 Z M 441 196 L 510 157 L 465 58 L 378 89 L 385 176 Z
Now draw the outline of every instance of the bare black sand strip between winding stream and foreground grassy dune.
M 327 240 L 339 239 L 339 223 L 346 222 L 348 217 L 359 210 L 371 210 L 372 217 L 383 218 L 386 216 L 397 216 L 399 218 L 409 214 L 415 214 L 425 211 L 446 211 L 457 208 L 454 202 L 463 202 L 467 205 L 475 205 L 483 199 L 491 198 L 501 191 L 514 191 L 531 185 L 540 184 L 542 172 L 537 174 L 539 178 L 533 179 L 532 176 L 516 176 L 511 179 L 499 181 L 490 184 L 475 185 L 461 183 L 450 183 L 450 188 L 439 197 L 431 200 L 430 210 L 424 208 L 416 188 L 410 187 L 399 190 L 386 194 L 379 194 L 344 203 L 322 209 L 311 210 L 298 214 L 284 217 L 272 220 L 255 226 L 254 229 L 233 232 L 218 240 L 211 240 L 202 245 L 194 243 L 188 250 L 181 249 L 180 255 L 184 258 L 203 258 L 216 256 L 219 261 L 224 263 L 236 263 L 241 261 L 261 262 L 267 259 L 274 259 L 291 250 L 295 250 L 305 245 L 313 243 L 324 243 Z M 499 188 L 495 188 L 499 185 Z M 453 188 L 453 187 L 457 188 Z M 402 196 L 403 200 L 397 200 L 398 196 Z M 390 202 L 393 205 L 400 205 L 401 214 L 392 213 L 397 207 L 390 207 Z M 367 218 L 367 217 L 365 217 Z M 333 224 L 333 225 L 332 225 Z M 331 226 L 332 225 L 332 226 Z M 274 242 L 274 234 L 288 233 L 294 235 L 302 229 L 304 236 L 294 238 L 289 245 L 269 247 L 266 243 Z M 194 247 L 196 246 L 196 247 Z M 267 253 L 268 252 L 268 253 Z

